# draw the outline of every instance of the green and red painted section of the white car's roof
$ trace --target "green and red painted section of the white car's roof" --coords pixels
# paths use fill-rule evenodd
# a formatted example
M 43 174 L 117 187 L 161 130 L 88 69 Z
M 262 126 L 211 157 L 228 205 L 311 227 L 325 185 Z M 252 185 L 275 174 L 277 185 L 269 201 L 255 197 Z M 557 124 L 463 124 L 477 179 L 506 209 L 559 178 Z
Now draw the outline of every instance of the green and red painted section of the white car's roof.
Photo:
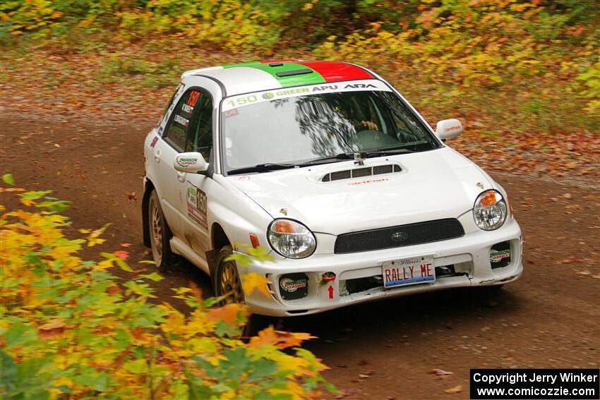
M 362 68 L 337 61 L 295 61 L 271 60 L 239 63 L 223 68 L 248 67 L 268 73 L 282 85 L 292 87 L 315 85 L 318 83 L 340 82 L 342 80 L 372 79 L 373 76 Z M 311 73 L 301 71 L 311 70 Z M 299 74 L 285 75 L 298 71 Z M 277 75 L 280 73 L 280 75 Z

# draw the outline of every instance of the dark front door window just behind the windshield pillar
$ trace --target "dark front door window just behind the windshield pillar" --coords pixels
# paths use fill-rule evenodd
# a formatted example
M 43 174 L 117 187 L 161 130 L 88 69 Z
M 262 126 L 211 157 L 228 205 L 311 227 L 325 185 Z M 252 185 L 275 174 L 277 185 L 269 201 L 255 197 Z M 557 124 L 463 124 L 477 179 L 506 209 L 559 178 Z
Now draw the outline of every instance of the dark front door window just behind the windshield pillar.
M 210 150 L 212 150 L 212 98 L 205 90 L 200 90 L 200 100 L 193 116 L 185 148 L 186 152 L 200 152 L 206 161 L 210 159 Z

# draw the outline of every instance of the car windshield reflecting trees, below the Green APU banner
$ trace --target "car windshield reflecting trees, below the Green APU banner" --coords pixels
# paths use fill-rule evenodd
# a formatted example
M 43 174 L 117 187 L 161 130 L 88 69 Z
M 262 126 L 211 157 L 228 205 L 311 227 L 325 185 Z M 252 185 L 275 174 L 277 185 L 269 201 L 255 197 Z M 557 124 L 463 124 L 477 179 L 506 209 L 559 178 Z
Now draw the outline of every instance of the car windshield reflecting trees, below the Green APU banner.
M 241 107 L 234 107 L 240 97 L 225 99 L 229 104 L 222 113 L 225 171 L 302 164 L 342 153 L 439 147 L 393 92 L 328 92 L 270 101 L 265 100 L 275 97 L 273 93 L 261 93 L 241 97 Z

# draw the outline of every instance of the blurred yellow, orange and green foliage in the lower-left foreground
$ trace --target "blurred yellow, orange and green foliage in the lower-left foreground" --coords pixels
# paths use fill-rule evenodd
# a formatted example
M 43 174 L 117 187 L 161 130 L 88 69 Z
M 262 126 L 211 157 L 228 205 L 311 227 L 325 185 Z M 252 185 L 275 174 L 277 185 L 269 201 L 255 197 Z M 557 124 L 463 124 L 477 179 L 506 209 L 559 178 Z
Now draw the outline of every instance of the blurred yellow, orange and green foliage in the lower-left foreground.
M 79 257 L 86 244 L 100 244 L 99 231 L 108 226 L 85 231 L 85 239 L 67 238 L 70 222 L 58 212 L 64 203 L 48 191 L 3 192 L 18 196 L 22 207 L 2 207 L 0 216 L 0 357 L 8 371 L 0 396 L 8 390 L 51 399 L 319 395 L 325 365 L 299 348 L 310 335 L 271 327 L 247 342 L 235 339 L 244 306 L 210 307 L 215 300 L 194 286 L 175 289 L 191 313 L 152 304 L 149 282 L 162 277 L 136 275 L 126 250 L 102 253 L 99 261 Z M 134 278 L 117 279 L 114 267 Z M 265 286 L 256 277 L 246 285 Z

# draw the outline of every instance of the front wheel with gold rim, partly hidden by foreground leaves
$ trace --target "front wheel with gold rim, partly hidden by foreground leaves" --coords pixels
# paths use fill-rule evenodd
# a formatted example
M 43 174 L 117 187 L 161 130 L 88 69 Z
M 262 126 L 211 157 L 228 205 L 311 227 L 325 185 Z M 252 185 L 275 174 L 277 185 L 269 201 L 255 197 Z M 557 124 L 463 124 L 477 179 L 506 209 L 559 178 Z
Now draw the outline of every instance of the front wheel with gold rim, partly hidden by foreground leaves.
M 232 246 L 224 246 L 217 256 L 217 267 L 215 268 L 214 288 L 215 296 L 229 296 L 223 299 L 222 305 L 229 303 L 246 303 L 244 298 L 244 289 L 241 286 L 241 279 L 237 270 L 236 262 L 226 260 L 233 254 Z M 274 325 L 275 318 L 265 315 L 251 314 L 248 316 L 246 325 L 241 329 L 239 337 L 247 339 L 256 335 L 260 330 L 269 325 Z

